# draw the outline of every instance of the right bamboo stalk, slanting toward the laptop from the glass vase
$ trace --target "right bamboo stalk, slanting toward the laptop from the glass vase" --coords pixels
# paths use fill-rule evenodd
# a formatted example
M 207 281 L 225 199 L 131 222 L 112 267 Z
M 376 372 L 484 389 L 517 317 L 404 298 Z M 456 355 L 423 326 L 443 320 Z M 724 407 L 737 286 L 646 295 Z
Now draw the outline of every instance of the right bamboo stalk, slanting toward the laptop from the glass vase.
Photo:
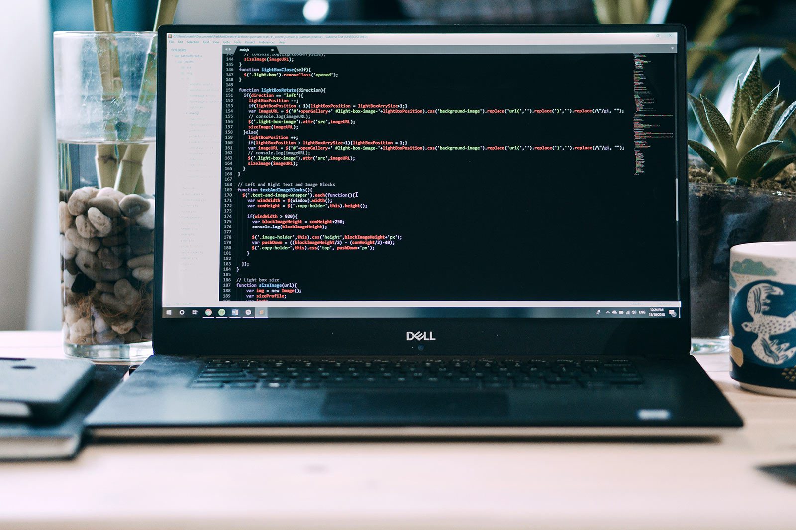
M 155 31 L 158 31 L 160 26 L 171 24 L 174 21 L 174 11 L 177 10 L 177 2 L 178 0 L 159 0 L 158 14 L 154 22 Z M 139 101 L 133 112 L 133 122 L 129 135 L 129 140 L 133 142 L 142 140 L 146 134 L 146 126 L 149 125 L 152 116 L 152 104 L 158 87 L 157 44 L 157 37 L 153 37 L 150 51 L 146 56 Z M 119 163 L 119 170 L 116 172 L 115 188 L 117 190 L 125 194 L 133 193 L 134 191 L 135 193 L 146 192 L 141 175 L 146 147 L 146 144 L 135 143 L 127 146 L 122 161 Z

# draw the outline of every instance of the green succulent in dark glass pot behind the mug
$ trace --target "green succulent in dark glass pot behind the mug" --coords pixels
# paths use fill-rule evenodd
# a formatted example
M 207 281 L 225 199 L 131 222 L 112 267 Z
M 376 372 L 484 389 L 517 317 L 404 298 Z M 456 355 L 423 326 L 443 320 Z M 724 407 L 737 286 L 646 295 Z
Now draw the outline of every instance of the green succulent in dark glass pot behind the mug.
M 796 122 L 796 102 L 778 101 L 779 86 L 763 91 L 759 54 L 736 79 L 730 115 L 689 95 L 713 149 L 689 146 L 689 245 L 695 350 L 716 348 L 728 335 L 732 288 L 730 247 L 796 240 L 796 153 L 777 153 Z M 700 160 L 701 159 L 701 160 Z

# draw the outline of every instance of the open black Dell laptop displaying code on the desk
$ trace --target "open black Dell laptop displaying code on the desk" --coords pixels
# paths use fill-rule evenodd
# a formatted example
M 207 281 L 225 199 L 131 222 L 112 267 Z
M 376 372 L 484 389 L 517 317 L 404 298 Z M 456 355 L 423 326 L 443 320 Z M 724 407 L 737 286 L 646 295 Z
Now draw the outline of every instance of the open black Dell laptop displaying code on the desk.
M 100 437 L 715 436 L 679 25 L 158 32 L 154 354 Z

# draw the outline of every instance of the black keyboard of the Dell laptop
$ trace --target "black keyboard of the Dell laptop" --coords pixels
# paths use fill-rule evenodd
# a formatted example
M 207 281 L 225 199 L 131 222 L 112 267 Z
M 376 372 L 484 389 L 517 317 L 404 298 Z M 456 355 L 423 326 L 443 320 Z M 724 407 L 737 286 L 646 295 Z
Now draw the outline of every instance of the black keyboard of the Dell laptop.
M 626 359 L 209 358 L 193 389 L 605 389 L 642 385 Z

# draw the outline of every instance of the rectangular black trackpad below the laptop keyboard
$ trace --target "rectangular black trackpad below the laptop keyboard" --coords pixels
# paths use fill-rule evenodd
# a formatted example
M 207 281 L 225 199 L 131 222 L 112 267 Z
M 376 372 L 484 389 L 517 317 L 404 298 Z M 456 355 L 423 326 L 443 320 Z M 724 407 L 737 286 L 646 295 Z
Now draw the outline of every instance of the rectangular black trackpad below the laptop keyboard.
M 509 400 L 505 393 L 497 392 L 339 391 L 327 394 L 322 413 L 349 417 L 494 417 L 509 413 Z

